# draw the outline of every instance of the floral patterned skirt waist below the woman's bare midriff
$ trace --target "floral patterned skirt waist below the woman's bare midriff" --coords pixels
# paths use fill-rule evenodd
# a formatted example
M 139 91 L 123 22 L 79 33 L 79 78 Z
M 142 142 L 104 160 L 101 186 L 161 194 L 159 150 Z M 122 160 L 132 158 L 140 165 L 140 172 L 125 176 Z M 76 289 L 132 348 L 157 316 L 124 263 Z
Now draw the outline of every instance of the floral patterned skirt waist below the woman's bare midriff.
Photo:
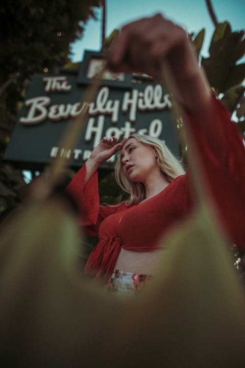
M 107 283 L 106 292 L 121 298 L 137 295 L 151 278 L 151 275 L 114 270 Z

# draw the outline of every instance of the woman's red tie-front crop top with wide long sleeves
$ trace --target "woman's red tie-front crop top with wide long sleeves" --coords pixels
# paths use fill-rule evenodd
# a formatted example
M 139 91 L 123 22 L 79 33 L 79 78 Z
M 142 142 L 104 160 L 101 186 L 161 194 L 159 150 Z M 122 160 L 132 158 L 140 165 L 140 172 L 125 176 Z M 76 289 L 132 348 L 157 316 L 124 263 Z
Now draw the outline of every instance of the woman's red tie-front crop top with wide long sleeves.
M 208 116 L 187 116 L 196 142 L 210 195 L 232 243 L 245 248 L 245 149 L 242 136 L 229 113 L 215 96 Z M 108 279 L 121 247 L 148 252 L 165 246 L 164 234 L 176 226 L 195 204 L 189 175 L 174 179 L 161 193 L 127 206 L 100 205 L 98 173 L 84 185 L 86 164 L 77 172 L 68 191 L 77 201 L 85 233 L 98 236 L 85 273 Z

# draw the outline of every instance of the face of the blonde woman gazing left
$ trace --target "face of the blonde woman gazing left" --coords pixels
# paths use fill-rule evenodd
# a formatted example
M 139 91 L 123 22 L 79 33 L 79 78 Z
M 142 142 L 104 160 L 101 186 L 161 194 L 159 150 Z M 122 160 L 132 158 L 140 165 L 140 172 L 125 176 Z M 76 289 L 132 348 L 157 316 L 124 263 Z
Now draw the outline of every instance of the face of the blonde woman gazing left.
M 129 138 L 121 151 L 123 171 L 129 180 L 144 183 L 155 170 L 159 170 L 156 151 L 146 143 Z

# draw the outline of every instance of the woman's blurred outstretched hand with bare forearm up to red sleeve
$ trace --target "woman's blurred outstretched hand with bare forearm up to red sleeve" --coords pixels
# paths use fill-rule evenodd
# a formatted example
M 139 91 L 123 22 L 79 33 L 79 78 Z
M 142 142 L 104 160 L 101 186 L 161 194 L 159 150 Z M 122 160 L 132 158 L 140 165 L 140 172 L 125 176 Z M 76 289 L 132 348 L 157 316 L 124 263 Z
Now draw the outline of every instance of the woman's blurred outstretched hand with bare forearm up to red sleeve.
M 168 62 L 177 99 L 188 110 L 207 108 L 210 86 L 184 28 L 161 14 L 125 25 L 115 40 L 108 65 L 115 72 L 143 72 L 161 80 L 162 61 Z

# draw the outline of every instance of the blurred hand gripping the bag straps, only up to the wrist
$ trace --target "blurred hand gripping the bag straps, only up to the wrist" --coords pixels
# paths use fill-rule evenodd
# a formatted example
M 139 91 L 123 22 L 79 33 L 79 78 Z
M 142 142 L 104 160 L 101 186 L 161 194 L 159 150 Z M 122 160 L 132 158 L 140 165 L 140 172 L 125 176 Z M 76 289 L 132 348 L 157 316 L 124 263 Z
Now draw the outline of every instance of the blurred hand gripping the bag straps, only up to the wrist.
M 161 14 L 156 14 L 125 25 L 108 61 L 113 70 L 144 72 L 159 79 L 160 61 L 166 57 L 170 59 L 172 69 L 178 73 L 179 69 L 182 73 L 193 73 L 186 63 L 190 61 L 188 54 L 190 42 L 185 30 Z M 188 60 L 185 60 L 187 56 Z

